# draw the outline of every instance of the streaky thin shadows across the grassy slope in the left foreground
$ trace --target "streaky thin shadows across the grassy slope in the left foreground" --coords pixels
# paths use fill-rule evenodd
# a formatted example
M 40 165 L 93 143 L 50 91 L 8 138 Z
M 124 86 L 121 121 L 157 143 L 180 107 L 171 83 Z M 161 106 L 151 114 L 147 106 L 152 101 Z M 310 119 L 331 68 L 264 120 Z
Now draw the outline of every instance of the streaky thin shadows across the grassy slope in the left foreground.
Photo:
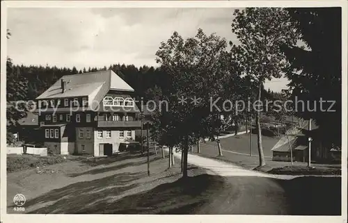
M 45 205 L 29 213 L 77 213 L 88 205 L 94 206 L 95 201 L 135 188 L 137 184 L 131 181 L 145 176 L 145 172 L 125 172 L 93 181 L 72 183 L 30 199 L 26 201 L 26 206 Z

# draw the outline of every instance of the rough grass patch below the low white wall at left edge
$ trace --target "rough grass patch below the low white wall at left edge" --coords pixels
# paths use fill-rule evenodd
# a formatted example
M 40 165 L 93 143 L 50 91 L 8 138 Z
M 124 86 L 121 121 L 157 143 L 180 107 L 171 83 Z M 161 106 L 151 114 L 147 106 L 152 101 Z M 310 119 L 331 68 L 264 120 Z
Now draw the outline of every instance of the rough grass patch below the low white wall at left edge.
M 54 165 L 57 163 L 64 163 L 68 159 L 61 155 L 52 156 L 34 156 L 29 154 L 23 155 L 8 155 L 7 168 L 8 173 L 19 172 L 22 170 L 29 170 L 35 167 L 44 167 L 47 165 Z

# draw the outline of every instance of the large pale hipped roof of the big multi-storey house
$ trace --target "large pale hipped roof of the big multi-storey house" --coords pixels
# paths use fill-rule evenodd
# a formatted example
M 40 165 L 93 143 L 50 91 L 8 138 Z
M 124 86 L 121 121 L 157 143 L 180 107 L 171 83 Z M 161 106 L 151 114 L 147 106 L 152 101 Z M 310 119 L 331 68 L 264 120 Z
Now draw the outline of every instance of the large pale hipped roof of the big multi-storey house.
M 66 90 L 61 90 L 61 80 L 66 82 Z M 54 99 L 66 97 L 92 96 L 95 90 L 107 88 L 107 90 L 121 90 L 133 92 L 134 89 L 123 81 L 112 70 L 73 74 L 61 77 L 49 89 L 40 94 L 36 99 Z

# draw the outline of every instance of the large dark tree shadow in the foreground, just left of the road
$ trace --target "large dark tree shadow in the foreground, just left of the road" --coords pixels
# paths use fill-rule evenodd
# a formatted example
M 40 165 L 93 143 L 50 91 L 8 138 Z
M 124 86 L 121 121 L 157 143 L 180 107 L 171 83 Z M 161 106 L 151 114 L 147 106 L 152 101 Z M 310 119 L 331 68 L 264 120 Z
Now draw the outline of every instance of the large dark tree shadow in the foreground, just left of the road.
M 79 214 L 189 214 L 209 202 L 223 185 L 220 176 L 201 174 L 164 183 L 152 190 L 123 197 L 118 201 L 97 202 L 94 206 L 80 210 Z

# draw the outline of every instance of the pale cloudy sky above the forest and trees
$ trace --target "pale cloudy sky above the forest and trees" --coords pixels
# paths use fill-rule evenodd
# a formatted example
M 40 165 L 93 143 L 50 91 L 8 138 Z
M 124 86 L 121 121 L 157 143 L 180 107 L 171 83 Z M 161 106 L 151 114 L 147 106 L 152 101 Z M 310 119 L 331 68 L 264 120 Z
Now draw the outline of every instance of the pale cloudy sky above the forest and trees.
M 203 28 L 236 42 L 233 8 L 9 8 L 8 56 L 15 64 L 109 67 L 157 66 L 155 53 L 174 31 L 183 38 Z M 287 79 L 265 88 L 280 91 Z

